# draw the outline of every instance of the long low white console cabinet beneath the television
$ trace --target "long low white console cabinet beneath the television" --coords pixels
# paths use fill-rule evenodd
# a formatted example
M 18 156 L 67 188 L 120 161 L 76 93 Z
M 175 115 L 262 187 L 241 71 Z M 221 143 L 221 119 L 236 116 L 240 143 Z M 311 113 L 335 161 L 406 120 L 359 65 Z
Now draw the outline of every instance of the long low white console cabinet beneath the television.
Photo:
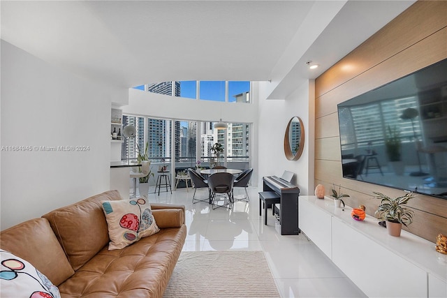
M 298 226 L 369 297 L 447 297 L 447 255 L 402 231 L 388 235 L 379 221 L 351 218 L 351 207 L 313 195 L 298 200 Z

